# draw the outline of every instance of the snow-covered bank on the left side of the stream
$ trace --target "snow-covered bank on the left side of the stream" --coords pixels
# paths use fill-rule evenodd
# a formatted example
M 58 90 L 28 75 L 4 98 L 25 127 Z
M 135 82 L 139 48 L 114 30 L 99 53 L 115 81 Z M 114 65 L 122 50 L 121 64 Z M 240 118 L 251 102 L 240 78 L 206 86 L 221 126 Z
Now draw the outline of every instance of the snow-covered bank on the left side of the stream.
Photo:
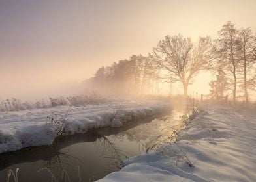
M 84 133 L 89 128 L 120 127 L 124 122 L 153 116 L 166 108 L 167 105 L 159 101 L 112 101 L 85 107 L 62 106 L 0 112 L 0 153 L 29 146 L 50 145 L 63 128 L 63 135 L 74 135 Z M 65 127 L 62 127 L 64 118 Z

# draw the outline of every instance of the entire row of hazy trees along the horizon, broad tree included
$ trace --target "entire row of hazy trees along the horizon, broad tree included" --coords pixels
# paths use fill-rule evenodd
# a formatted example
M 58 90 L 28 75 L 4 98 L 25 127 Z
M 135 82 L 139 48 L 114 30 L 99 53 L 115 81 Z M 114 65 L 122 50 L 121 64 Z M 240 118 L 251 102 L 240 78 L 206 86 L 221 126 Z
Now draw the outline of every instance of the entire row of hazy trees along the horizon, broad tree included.
M 216 73 L 209 83 L 211 98 L 232 93 L 235 102 L 242 93 L 248 102 L 249 90 L 256 88 L 255 62 L 255 33 L 227 21 L 216 40 L 206 36 L 193 42 L 181 34 L 165 36 L 148 56 L 133 55 L 101 67 L 89 81 L 93 88 L 113 94 L 157 94 L 161 82 L 179 82 L 187 96 L 195 76 L 208 70 Z

